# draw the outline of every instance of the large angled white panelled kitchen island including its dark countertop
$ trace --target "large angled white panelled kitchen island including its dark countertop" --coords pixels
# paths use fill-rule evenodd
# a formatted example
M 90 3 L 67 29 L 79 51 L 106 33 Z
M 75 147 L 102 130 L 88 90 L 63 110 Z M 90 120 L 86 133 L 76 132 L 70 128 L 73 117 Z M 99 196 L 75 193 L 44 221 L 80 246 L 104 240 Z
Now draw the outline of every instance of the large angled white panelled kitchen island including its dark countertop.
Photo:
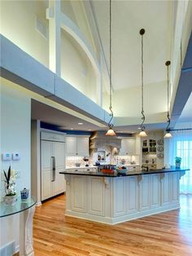
M 67 216 L 116 224 L 180 207 L 179 180 L 189 169 L 126 174 L 63 171 Z

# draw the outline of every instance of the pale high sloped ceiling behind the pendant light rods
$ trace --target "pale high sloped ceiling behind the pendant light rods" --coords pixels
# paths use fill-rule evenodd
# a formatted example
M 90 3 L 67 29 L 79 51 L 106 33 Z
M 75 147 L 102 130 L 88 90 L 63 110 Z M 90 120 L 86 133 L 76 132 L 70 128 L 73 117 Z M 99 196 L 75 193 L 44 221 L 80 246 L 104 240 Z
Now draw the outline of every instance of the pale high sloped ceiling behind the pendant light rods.
M 107 61 L 109 1 L 91 0 Z M 144 83 L 165 81 L 170 59 L 172 1 L 112 1 L 112 83 L 115 90 L 141 85 L 141 35 L 144 35 Z

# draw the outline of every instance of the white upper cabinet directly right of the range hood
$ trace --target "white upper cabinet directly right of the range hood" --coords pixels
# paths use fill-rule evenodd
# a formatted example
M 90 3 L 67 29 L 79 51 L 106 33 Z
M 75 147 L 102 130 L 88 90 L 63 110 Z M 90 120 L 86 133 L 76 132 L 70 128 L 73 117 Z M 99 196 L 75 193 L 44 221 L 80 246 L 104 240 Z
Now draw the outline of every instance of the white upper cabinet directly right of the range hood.
M 135 155 L 136 141 L 135 138 L 121 139 L 120 155 Z

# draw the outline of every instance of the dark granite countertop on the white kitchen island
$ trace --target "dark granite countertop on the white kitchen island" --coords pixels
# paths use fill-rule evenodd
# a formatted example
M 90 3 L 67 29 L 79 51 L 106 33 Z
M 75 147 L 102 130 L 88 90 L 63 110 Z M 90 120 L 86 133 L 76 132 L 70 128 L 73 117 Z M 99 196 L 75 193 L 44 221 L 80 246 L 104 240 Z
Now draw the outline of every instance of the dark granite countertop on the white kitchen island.
M 97 177 L 122 177 L 122 176 L 133 176 L 133 175 L 143 175 L 143 174 L 164 174 L 164 173 L 170 173 L 170 172 L 177 172 L 177 171 L 185 171 L 190 170 L 189 168 L 168 168 L 168 169 L 158 169 L 158 170 L 133 170 L 133 171 L 127 171 L 125 174 L 118 174 L 116 171 L 113 174 L 106 174 L 103 172 L 91 172 L 91 171 L 61 171 L 59 174 L 70 174 L 70 175 L 88 175 L 88 176 L 97 176 Z

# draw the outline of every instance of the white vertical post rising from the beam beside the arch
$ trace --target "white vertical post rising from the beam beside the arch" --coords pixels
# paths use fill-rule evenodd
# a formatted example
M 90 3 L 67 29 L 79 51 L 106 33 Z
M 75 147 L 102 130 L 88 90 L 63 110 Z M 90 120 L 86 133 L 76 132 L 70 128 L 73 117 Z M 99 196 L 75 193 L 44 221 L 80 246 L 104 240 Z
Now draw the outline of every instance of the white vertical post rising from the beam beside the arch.
M 60 0 L 50 0 L 46 9 L 49 20 L 49 68 L 60 77 Z

